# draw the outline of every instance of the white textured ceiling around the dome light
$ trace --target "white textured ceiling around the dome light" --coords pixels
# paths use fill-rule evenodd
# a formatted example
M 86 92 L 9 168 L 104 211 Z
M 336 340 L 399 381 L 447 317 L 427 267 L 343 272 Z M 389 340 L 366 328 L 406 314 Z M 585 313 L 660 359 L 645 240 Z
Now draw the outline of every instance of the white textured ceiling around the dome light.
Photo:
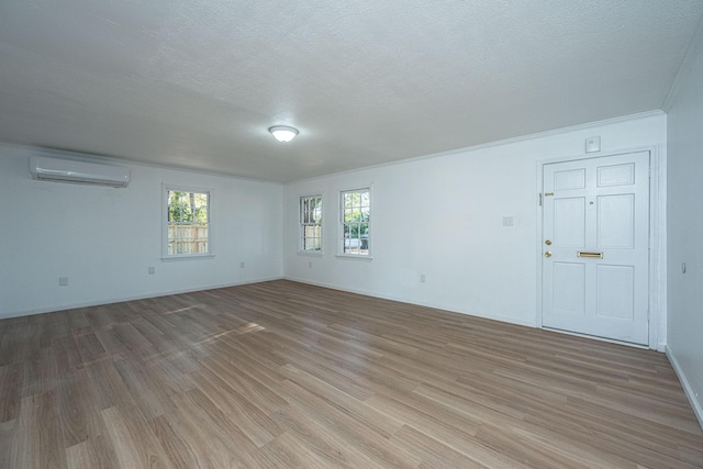
M 701 0 L 1 0 L 0 141 L 271 181 L 661 109 Z M 267 132 L 300 130 L 280 144 Z

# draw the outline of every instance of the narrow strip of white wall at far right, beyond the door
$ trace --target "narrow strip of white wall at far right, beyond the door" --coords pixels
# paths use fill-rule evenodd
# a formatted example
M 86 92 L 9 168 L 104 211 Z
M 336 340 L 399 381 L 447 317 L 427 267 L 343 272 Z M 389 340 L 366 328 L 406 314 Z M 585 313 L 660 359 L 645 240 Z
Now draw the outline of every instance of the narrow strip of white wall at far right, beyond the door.
M 703 42 L 703 41 L 701 41 Z M 703 51 L 703 44 L 699 45 Z M 668 355 L 703 425 L 703 52 L 669 111 Z M 685 273 L 682 264 L 685 263 Z

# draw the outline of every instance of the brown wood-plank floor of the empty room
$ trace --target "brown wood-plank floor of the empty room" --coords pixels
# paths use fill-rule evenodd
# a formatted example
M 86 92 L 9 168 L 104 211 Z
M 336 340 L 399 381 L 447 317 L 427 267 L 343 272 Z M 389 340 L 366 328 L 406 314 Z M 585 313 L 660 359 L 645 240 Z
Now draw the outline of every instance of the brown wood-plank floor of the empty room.
M 0 321 L 0 468 L 703 467 L 665 355 L 274 281 Z

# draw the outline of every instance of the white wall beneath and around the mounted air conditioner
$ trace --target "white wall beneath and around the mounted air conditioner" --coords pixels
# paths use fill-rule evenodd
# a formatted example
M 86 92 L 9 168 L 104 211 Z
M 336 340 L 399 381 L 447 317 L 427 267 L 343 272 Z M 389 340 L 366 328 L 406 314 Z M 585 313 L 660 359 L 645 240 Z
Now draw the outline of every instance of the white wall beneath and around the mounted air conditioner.
M 0 317 L 282 276 L 280 185 L 127 163 L 125 189 L 37 181 L 31 153 L 0 145 Z M 161 261 L 163 182 L 213 190 L 214 258 Z

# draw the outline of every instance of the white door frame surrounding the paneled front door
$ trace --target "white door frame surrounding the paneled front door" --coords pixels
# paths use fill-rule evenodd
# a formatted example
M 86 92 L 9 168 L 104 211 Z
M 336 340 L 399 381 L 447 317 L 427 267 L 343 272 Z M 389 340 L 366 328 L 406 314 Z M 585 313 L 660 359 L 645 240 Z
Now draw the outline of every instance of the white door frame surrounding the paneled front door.
M 544 212 L 539 203 L 539 196 L 544 188 L 544 167 L 555 163 L 576 161 L 579 159 L 601 158 L 625 155 L 636 152 L 649 152 L 649 348 L 665 351 L 667 345 L 667 149 L 665 145 L 624 148 L 616 152 L 583 153 L 581 155 L 565 156 L 537 160 L 537 317 L 536 325 L 544 328 L 542 317 L 542 276 L 543 276 L 543 225 Z M 610 340 L 602 337 L 582 335 L 599 340 L 615 342 L 637 347 L 633 344 Z

